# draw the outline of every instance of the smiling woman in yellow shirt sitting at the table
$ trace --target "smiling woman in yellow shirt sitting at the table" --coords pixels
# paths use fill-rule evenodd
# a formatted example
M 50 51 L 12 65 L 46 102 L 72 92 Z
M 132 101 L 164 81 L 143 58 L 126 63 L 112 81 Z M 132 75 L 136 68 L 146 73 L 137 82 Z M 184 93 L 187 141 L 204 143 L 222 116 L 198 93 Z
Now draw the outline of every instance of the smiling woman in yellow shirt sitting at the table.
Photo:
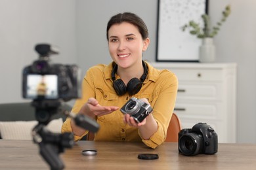
M 100 124 L 95 141 L 142 141 L 156 148 L 166 138 L 177 95 L 177 77 L 142 60 L 150 39 L 146 24 L 136 14 L 112 16 L 106 35 L 113 61 L 87 71 L 82 97 L 75 102 L 72 112 L 95 118 Z M 135 114 L 144 119 L 136 121 L 135 115 L 119 110 L 130 99 L 142 103 Z M 62 132 L 73 132 L 75 141 L 88 133 L 69 118 Z

